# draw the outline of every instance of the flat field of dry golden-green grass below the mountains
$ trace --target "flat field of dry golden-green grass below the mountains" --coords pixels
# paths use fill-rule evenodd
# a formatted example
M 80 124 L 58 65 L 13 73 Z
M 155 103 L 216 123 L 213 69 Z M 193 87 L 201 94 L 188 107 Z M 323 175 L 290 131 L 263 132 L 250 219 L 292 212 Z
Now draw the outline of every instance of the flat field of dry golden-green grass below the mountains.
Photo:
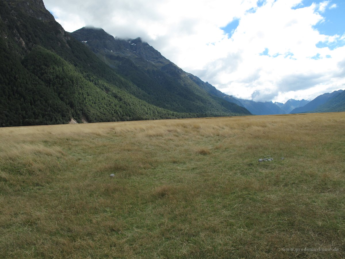
M 344 258 L 344 125 L 325 113 L 0 128 L 0 258 Z

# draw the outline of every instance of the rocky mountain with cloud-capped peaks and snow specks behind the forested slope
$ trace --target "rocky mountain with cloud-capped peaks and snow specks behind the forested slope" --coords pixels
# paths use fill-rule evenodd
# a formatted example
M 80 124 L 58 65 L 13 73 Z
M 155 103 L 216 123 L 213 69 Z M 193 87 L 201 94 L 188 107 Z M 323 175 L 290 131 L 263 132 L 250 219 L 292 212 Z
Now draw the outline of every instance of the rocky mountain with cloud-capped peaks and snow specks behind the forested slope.
M 150 104 L 175 112 L 203 113 L 206 116 L 249 114 L 243 107 L 226 102 L 220 91 L 186 73 L 140 38 L 115 38 L 103 29 L 91 27 L 83 27 L 71 35 L 138 86 L 142 92 L 131 94 Z M 211 88 L 214 88 L 213 92 L 209 91 Z

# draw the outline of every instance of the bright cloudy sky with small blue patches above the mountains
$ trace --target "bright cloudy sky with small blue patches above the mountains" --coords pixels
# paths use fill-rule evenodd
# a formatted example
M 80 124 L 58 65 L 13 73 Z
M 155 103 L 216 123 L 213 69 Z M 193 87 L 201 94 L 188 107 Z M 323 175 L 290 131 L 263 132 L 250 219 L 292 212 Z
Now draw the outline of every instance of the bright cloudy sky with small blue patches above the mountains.
M 345 89 L 344 0 L 43 0 L 69 32 L 148 42 L 221 92 L 285 103 Z

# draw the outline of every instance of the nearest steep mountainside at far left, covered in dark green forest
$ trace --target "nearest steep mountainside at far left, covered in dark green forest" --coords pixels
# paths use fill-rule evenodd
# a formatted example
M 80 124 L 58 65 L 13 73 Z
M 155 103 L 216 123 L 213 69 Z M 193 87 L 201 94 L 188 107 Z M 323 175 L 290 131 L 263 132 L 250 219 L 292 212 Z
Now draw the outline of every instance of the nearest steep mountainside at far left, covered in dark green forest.
M 0 126 L 236 115 L 212 98 L 192 99 L 190 110 L 158 107 L 63 30 L 42 0 L 1 1 L 0 17 Z

